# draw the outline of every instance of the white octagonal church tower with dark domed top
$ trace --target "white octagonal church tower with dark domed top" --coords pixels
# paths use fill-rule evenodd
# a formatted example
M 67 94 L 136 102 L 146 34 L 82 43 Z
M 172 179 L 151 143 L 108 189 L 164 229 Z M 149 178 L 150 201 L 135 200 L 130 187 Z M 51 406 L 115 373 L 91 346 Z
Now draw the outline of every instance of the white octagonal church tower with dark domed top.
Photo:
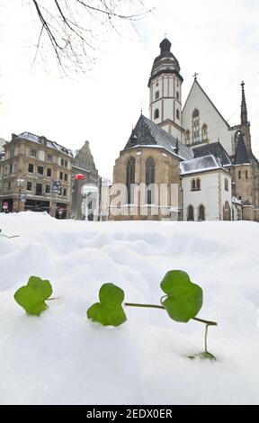
M 181 140 L 183 76 L 180 70 L 171 52 L 171 42 L 165 38 L 148 81 L 150 120 Z

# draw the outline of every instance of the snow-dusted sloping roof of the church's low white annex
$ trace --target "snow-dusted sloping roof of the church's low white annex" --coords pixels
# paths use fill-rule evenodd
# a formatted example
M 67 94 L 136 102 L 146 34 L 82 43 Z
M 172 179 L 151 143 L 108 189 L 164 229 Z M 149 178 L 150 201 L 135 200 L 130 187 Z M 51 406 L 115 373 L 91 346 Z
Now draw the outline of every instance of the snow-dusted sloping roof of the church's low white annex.
M 214 156 L 197 157 L 180 163 L 181 175 L 196 174 L 199 172 L 208 172 L 210 170 L 222 169 Z

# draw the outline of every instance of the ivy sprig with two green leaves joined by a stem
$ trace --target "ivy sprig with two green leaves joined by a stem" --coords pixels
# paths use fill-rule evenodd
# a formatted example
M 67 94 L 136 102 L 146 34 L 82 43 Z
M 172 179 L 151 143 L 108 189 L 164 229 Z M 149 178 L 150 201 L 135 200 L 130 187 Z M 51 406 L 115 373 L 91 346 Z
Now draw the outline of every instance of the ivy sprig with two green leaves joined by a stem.
M 190 356 L 196 358 L 216 360 L 208 351 L 208 330 L 218 323 L 197 318 L 203 304 L 203 292 L 199 285 L 192 284 L 189 275 L 181 270 L 168 272 L 161 282 L 161 289 L 166 294 L 161 298 L 161 305 L 135 304 L 125 302 L 126 307 L 159 309 L 167 312 L 168 316 L 177 322 L 188 323 L 195 320 L 205 325 L 204 351 Z M 113 284 L 104 284 L 99 293 L 100 302 L 94 304 L 87 311 L 88 319 L 97 321 L 103 326 L 120 326 L 127 318 L 122 309 L 124 292 Z

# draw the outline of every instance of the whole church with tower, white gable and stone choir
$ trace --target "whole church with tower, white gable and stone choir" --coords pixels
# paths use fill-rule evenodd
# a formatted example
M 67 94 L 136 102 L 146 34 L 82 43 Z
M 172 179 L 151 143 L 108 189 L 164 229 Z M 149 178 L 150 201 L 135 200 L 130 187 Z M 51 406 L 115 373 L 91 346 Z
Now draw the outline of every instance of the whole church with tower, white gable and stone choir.
M 197 75 L 183 107 L 182 85 L 179 62 L 165 39 L 148 81 L 150 119 L 141 114 L 115 162 L 112 219 L 259 221 L 259 162 L 245 84 L 240 122 L 233 127 Z M 120 207 L 118 184 L 126 187 Z

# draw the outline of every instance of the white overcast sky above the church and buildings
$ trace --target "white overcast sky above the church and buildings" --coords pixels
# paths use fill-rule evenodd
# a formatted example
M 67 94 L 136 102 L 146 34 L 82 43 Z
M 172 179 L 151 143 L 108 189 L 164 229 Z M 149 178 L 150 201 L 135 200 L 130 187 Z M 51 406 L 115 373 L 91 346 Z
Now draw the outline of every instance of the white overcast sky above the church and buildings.
M 112 178 L 114 161 L 138 121 L 148 115 L 147 81 L 159 43 L 172 42 L 184 78 L 183 98 L 198 80 L 230 124 L 239 123 L 242 79 L 246 82 L 252 143 L 259 156 L 258 0 L 146 0 L 156 12 L 111 37 L 97 53 L 91 74 L 58 78 L 32 67 L 39 27 L 28 0 L 0 4 L 0 138 L 31 131 L 67 146 L 90 141 L 100 175 Z M 124 32 L 125 33 L 125 32 Z

